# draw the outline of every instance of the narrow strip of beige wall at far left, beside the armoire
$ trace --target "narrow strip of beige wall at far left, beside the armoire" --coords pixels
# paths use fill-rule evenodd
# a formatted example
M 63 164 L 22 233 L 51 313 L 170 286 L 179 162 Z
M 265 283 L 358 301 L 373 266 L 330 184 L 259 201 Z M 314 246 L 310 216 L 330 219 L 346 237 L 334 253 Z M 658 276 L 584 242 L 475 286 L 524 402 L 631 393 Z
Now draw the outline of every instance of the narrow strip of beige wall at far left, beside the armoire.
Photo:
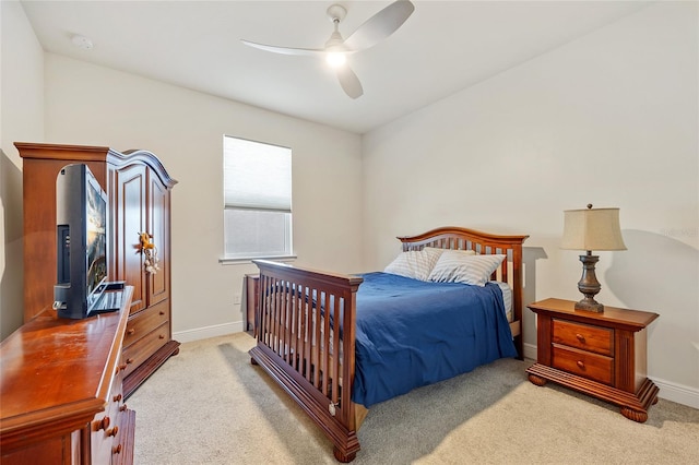
M 22 159 L 44 139 L 44 51 L 16 1 L 0 2 L 0 339 L 22 324 Z

